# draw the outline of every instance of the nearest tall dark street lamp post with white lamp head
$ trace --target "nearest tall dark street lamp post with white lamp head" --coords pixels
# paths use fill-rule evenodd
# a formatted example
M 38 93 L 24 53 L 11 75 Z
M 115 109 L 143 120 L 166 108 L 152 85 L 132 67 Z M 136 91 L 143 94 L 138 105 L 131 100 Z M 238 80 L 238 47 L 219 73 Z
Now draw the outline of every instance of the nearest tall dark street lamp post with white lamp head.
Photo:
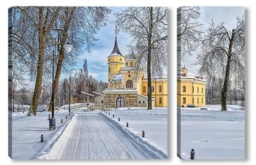
M 56 36 L 58 37 L 58 35 Z M 56 39 L 55 39 L 56 40 Z M 61 47 L 64 47 L 64 50 L 66 53 L 69 53 L 72 49 L 72 45 L 69 45 L 69 43 L 67 43 L 67 45 L 61 45 Z M 56 45 L 55 45 L 55 49 L 56 49 Z M 55 57 L 56 56 L 56 52 L 55 50 L 53 50 L 53 80 L 52 80 L 52 104 L 51 104 L 51 118 L 49 119 L 49 128 L 56 128 L 56 119 L 54 118 L 54 63 L 55 63 Z

